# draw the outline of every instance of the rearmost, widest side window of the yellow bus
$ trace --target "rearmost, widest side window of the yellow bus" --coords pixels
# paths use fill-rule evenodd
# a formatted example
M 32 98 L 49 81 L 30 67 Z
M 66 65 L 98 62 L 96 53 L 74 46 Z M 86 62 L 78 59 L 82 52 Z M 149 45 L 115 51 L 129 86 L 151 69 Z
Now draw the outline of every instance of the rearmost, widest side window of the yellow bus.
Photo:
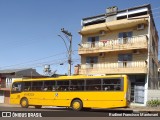
M 121 79 L 103 79 L 102 88 L 104 91 L 119 91 L 122 90 Z

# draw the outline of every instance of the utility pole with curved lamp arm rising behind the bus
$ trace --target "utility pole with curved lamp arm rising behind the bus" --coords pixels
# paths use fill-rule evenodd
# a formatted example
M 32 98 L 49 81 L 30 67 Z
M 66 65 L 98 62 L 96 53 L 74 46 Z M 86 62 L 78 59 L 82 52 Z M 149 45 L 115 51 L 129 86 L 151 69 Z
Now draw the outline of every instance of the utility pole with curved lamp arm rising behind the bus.
M 69 40 L 69 48 L 66 46 L 65 40 L 60 36 L 64 43 L 65 46 L 67 48 L 67 52 L 68 52 L 68 75 L 71 76 L 71 66 L 72 66 L 72 34 L 70 32 L 68 32 L 67 30 L 65 30 L 64 28 L 61 29 L 61 32 L 64 33 L 64 35 L 66 36 L 66 38 Z

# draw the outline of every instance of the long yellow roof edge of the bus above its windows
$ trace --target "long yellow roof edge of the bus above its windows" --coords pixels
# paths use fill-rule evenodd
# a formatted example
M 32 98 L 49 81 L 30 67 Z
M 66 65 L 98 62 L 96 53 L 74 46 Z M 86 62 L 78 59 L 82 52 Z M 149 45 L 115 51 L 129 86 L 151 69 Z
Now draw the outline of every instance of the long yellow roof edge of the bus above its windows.
M 85 75 L 75 75 L 75 76 L 60 76 L 60 77 L 48 77 L 48 78 L 22 78 L 21 80 L 15 80 L 14 82 L 21 81 L 46 81 L 46 80 L 65 80 L 65 79 L 89 79 L 89 78 L 117 78 L 126 77 L 127 75 L 106 75 L 106 76 L 85 76 Z

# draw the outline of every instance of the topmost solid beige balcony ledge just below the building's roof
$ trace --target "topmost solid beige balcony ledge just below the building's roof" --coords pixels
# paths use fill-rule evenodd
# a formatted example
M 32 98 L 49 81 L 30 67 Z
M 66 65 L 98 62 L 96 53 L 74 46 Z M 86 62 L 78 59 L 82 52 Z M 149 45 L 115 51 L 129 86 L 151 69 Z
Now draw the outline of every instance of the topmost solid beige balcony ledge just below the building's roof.
M 148 15 L 141 16 L 138 19 L 122 19 L 122 20 L 114 20 L 105 23 L 99 23 L 89 26 L 83 26 L 81 31 L 79 32 L 81 35 L 88 35 L 99 33 L 100 31 L 113 31 L 119 29 L 126 29 L 135 27 L 138 24 L 147 24 L 148 22 Z

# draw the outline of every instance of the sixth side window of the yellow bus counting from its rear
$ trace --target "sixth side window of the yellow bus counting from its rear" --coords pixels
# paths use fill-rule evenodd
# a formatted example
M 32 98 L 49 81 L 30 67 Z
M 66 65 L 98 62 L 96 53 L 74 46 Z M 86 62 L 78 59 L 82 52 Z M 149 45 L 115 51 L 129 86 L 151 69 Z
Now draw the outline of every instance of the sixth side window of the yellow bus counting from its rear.
M 32 82 L 32 91 L 41 91 L 43 88 L 43 81 Z

